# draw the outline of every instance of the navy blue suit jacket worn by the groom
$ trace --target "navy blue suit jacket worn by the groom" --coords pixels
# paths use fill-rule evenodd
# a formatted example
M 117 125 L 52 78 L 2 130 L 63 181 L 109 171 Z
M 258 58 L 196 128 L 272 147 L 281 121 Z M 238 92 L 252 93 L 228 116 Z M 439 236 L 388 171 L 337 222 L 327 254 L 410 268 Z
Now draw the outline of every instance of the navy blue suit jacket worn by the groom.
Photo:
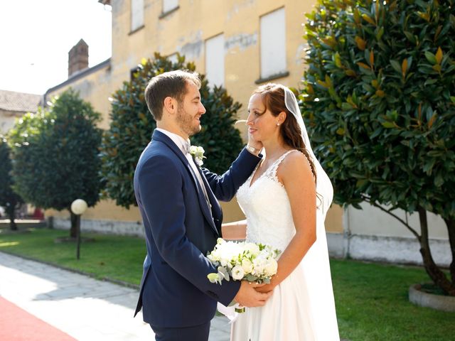
M 210 207 L 188 160 L 171 139 L 154 131 L 134 172 L 134 193 L 144 222 L 147 255 L 136 313 L 159 327 L 188 327 L 213 318 L 216 302 L 228 305 L 239 281 L 210 283 L 216 272 L 205 257 L 221 237 L 218 200 L 231 200 L 260 158 L 242 151 L 221 176 L 198 168 Z M 135 315 L 136 315 L 135 313 Z

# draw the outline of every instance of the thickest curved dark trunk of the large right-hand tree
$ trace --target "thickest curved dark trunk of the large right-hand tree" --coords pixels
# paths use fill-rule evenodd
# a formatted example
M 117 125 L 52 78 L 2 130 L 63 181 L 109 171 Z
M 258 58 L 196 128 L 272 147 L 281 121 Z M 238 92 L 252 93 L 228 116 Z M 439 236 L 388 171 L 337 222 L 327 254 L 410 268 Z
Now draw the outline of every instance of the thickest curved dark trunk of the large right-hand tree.
M 455 286 L 449 281 L 444 272 L 442 272 L 441 269 L 439 269 L 439 267 L 434 263 L 432 251 L 429 249 L 428 242 L 427 211 L 424 210 L 423 207 L 419 207 L 419 220 L 420 229 L 422 230 L 422 234 L 419 238 L 420 254 L 422 254 L 425 270 L 434 283 L 439 286 L 439 288 L 450 296 L 455 296 Z

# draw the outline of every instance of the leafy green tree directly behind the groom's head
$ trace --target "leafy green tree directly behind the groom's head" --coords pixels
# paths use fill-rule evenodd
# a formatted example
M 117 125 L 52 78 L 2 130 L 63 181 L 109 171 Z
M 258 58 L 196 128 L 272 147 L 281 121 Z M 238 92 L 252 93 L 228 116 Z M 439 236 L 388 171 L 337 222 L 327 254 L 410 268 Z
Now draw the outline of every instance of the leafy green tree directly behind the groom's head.
M 102 176 L 107 185 L 105 195 L 117 205 L 137 205 L 133 176 L 141 152 L 151 139 L 156 122 L 147 108 L 144 90 L 151 77 L 166 71 L 194 71 L 193 63 L 178 56 L 176 63 L 155 53 L 154 59 L 142 60 L 132 80 L 124 82 L 112 99 L 111 125 L 102 142 Z M 191 138 L 193 145 L 205 149 L 204 167 L 223 173 L 242 148 L 240 132 L 233 126 L 241 104 L 234 102 L 222 87 L 208 86 L 201 75 L 200 96 L 207 112 L 202 118 L 202 131 Z

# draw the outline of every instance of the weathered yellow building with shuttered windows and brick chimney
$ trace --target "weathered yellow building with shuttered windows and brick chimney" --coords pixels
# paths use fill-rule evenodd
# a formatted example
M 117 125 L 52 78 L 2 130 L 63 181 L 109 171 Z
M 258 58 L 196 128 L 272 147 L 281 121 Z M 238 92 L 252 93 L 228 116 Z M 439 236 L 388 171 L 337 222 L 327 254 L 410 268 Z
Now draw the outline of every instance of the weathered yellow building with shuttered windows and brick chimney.
M 100 2 L 112 8 L 112 57 L 87 68 L 81 40 L 69 53 L 68 80 L 49 89 L 45 99 L 73 87 L 103 114 L 104 129 L 109 128 L 109 96 L 129 80 L 142 58 L 151 58 L 155 52 L 169 58 L 180 53 L 193 61 L 211 84 L 223 85 L 242 103 L 240 119 L 247 117 L 248 99 L 258 85 L 270 81 L 299 86 L 304 70 L 302 23 L 304 13 L 311 11 L 311 1 Z M 240 129 L 246 138 L 245 127 Z M 227 221 L 243 219 L 235 200 L 223 203 L 223 209 Z M 47 213 L 55 216 L 57 224 L 59 217 L 67 224 L 65 213 Z M 137 209 L 124 210 L 110 200 L 90 209 L 85 218 L 92 228 L 114 231 L 122 225 L 129 233 L 141 233 Z M 342 231 L 339 207 L 332 210 L 329 220 L 329 229 Z

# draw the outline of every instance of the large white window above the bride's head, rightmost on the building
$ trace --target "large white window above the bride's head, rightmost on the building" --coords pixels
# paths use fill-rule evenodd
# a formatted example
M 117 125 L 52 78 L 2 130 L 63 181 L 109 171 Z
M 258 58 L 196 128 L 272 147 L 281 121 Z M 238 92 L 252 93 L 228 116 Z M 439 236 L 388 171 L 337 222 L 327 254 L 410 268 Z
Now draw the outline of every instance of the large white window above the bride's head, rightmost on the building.
M 284 8 L 261 17 L 261 78 L 284 76 L 286 70 Z

